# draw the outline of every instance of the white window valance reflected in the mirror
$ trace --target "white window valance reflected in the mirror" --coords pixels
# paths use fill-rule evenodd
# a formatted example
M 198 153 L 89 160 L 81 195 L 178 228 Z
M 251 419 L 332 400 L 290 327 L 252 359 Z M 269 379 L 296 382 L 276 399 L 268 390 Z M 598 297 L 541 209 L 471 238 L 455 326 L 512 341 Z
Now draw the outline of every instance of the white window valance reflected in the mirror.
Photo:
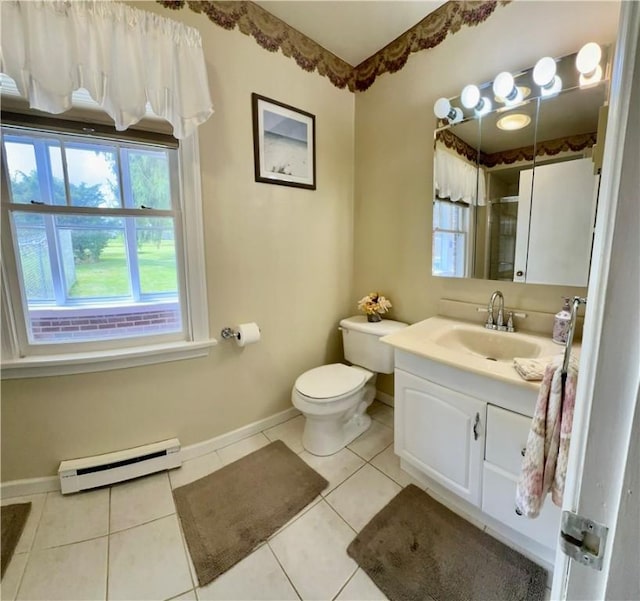
M 438 198 L 469 205 L 486 203 L 484 171 L 439 146 L 435 149 L 434 185 Z

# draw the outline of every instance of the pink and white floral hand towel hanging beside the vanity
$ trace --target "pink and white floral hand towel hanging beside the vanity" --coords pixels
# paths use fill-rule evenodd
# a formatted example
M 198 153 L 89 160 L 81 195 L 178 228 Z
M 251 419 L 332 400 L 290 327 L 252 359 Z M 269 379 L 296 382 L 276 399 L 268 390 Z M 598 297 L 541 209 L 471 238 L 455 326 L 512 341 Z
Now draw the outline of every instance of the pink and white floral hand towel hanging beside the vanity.
M 516 507 L 523 515 L 539 515 L 549 491 L 562 505 L 573 426 L 577 370 L 570 365 L 562 390 L 562 367 L 547 365 L 529 430 L 522 473 L 516 489 Z

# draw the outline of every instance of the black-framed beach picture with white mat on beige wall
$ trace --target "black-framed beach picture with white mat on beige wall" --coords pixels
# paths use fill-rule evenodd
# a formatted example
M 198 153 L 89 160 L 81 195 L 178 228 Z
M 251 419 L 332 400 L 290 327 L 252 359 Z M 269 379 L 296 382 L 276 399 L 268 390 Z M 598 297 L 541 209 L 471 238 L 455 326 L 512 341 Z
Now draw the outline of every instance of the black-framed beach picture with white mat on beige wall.
M 255 93 L 251 105 L 256 181 L 315 190 L 315 116 Z

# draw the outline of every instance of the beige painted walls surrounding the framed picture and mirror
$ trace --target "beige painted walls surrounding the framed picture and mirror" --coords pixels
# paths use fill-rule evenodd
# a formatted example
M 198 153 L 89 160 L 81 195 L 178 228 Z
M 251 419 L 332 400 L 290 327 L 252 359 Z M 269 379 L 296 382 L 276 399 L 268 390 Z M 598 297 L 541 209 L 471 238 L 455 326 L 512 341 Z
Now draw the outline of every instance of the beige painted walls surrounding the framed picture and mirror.
M 298 374 L 341 358 L 336 321 L 370 290 L 405 321 L 435 314 L 441 297 L 486 302 L 495 283 L 431 277 L 432 106 L 532 65 L 541 41 L 558 40 L 547 51 L 562 55 L 614 35 L 614 3 L 542 5 L 499 7 L 354 96 L 202 15 L 141 3 L 202 32 L 216 108 L 200 132 L 211 333 L 255 320 L 263 340 L 203 359 L 3 382 L 2 480 L 171 436 L 188 445 L 287 408 Z M 253 181 L 254 91 L 316 115 L 315 192 Z M 548 311 L 576 291 L 500 287 L 507 304 Z M 391 379 L 381 387 L 392 392 Z

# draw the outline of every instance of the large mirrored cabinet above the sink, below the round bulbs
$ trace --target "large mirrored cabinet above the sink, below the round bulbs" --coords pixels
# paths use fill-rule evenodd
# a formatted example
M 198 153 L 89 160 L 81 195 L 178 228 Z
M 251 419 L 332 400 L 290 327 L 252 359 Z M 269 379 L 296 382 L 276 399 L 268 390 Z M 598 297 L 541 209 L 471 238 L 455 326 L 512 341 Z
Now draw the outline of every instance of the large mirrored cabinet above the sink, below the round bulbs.
M 547 93 L 533 68 L 515 74 L 511 104 L 484 84 L 484 114 L 450 100 L 434 136 L 433 275 L 587 285 L 608 54 L 582 83 L 576 54 L 554 59 Z

